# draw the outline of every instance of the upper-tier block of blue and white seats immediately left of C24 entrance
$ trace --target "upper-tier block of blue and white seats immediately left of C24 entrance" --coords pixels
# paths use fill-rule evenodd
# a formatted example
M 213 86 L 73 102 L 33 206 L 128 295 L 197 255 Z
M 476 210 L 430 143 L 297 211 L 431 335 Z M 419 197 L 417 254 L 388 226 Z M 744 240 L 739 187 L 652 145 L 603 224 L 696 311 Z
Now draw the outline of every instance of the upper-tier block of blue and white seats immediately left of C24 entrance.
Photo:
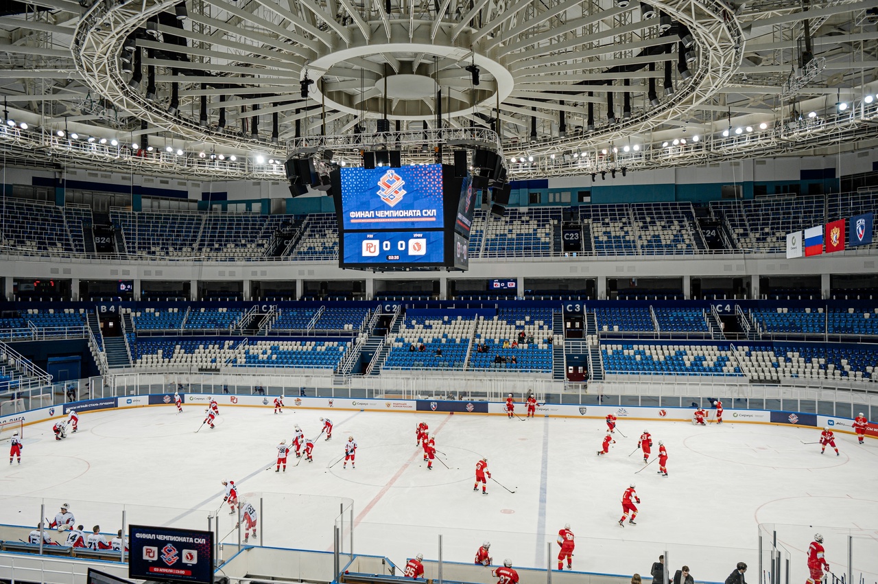
M 637 242 L 644 255 L 694 254 L 696 234 L 689 203 L 645 203 L 631 205 L 637 226 Z

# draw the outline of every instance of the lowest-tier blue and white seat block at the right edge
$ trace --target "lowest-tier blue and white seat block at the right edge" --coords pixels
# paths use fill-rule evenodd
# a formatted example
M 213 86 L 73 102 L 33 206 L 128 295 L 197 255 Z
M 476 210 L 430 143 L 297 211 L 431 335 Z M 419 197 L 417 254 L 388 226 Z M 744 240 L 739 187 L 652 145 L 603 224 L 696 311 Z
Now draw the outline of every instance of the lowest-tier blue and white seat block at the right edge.
M 878 348 L 868 345 L 782 343 L 745 345 L 736 356 L 750 379 L 835 379 L 867 381 L 878 377 Z

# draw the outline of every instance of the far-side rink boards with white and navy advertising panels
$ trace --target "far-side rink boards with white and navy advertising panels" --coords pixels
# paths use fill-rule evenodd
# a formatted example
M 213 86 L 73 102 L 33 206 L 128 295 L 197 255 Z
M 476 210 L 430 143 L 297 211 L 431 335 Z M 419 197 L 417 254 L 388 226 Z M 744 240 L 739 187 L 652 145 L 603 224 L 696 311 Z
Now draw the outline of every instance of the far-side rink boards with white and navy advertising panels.
M 206 407 L 214 399 L 221 407 L 264 407 L 274 408 L 274 398 L 263 395 L 230 395 L 225 393 L 180 393 L 184 406 Z M 112 407 L 115 403 L 115 407 Z M 0 417 L 0 422 L 18 422 L 25 425 L 45 422 L 52 419 L 66 419 L 71 408 L 82 416 L 91 411 L 108 409 L 125 409 L 128 407 L 162 406 L 175 408 L 173 393 L 151 393 L 148 395 L 121 396 L 101 398 L 97 400 L 81 400 L 57 406 L 40 407 L 18 414 Z M 287 398 L 284 410 L 297 409 L 369 411 L 369 412 L 406 412 L 414 414 L 462 414 L 462 415 L 507 415 L 506 402 L 486 401 L 450 401 L 450 400 L 394 400 L 394 399 L 351 399 L 325 397 Z M 637 422 L 691 422 L 694 407 L 655 407 L 655 406 L 579 406 L 576 404 L 544 404 L 536 407 L 536 415 L 553 418 L 579 418 L 584 420 L 601 420 L 607 415 L 615 415 L 616 423 L 626 421 Z M 708 410 L 708 424 L 716 423 L 716 410 Z M 527 407 L 522 402 L 515 402 L 515 415 L 524 419 Z M 723 409 L 724 423 L 766 423 L 779 426 L 795 426 L 805 429 L 822 429 L 829 427 L 833 431 L 854 434 L 851 418 L 840 416 L 816 415 L 801 412 L 786 412 L 761 409 Z M 869 423 L 867 436 L 878 437 L 878 424 Z

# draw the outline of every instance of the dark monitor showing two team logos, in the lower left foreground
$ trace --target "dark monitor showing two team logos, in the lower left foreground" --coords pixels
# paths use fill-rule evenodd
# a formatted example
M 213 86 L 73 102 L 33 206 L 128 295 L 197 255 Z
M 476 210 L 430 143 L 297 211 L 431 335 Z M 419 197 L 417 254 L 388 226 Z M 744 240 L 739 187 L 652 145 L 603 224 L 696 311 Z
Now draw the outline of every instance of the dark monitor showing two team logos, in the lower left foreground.
M 128 577 L 193 584 L 213 584 L 213 534 L 130 525 Z

